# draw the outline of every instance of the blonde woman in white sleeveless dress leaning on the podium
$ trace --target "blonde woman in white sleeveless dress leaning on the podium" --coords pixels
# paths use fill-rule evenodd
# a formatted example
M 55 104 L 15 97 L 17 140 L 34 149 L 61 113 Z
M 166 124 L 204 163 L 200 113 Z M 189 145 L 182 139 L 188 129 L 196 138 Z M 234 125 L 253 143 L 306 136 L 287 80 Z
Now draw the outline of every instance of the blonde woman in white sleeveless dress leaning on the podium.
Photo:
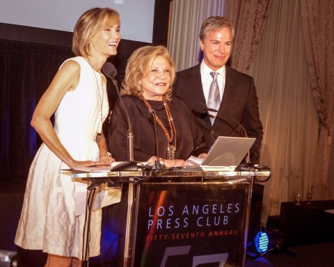
M 72 41 L 76 57 L 61 65 L 33 113 L 31 125 L 43 143 L 29 170 L 15 243 L 46 252 L 48 267 L 81 266 L 85 214 L 76 212 L 76 200 L 83 187 L 61 170 L 114 161 L 102 131 L 109 104 L 101 69 L 117 54 L 119 42 L 115 10 L 93 8 L 81 15 Z M 93 211 L 91 220 L 89 252 L 97 256 L 101 209 Z

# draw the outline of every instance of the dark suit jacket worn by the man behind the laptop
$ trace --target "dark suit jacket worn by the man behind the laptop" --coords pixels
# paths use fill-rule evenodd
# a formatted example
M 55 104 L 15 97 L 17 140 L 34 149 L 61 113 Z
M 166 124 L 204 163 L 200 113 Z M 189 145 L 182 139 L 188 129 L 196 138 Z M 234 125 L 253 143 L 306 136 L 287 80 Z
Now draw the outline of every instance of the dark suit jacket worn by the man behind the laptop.
M 173 94 L 184 99 L 191 108 L 209 145 L 212 145 L 218 136 L 242 136 L 241 127 L 228 116 L 240 122 L 246 129 L 248 137 L 256 138 L 250 148 L 250 161 L 257 163 L 263 132 L 254 80 L 251 76 L 226 66 L 223 100 L 214 125 L 211 124 L 207 113 L 198 111 L 198 106 L 206 106 L 200 64 L 177 72 Z

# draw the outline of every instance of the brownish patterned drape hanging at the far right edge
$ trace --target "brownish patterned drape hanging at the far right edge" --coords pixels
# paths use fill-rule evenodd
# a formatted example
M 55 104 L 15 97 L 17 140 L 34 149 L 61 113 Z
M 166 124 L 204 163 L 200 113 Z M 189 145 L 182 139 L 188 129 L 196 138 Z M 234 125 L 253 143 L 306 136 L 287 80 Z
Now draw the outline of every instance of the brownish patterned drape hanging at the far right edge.
M 320 134 L 317 147 L 317 197 L 333 195 L 328 188 L 334 102 L 334 6 L 332 0 L 301 0 L 301 15 L 308 74 L 315 107 L 319 115 Z M 333 178 L 332 178 L 333 179 Z

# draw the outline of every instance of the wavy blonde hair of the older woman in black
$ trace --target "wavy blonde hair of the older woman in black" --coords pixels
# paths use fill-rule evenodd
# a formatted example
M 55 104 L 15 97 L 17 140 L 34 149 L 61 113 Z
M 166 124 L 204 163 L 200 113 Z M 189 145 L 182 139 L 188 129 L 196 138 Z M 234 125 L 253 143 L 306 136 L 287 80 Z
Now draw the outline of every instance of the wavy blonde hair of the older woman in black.
M 172 98 L 172 85 L 175 79 L 175 65 L 170 57 L 166 47 L 158 45 L 156 47 L 148 45 L 136 49 L 127 60 L 125 67 L 125 78 L 122 83 L 122 95 L 133 95 L 134 97 L 143 97 L 143 89 L 139 81 L 147 76 L 151 70 L 155 58 L 161 56 L 168 61 L 170 67 L 170 86 L 164 94 L 164 99 Z

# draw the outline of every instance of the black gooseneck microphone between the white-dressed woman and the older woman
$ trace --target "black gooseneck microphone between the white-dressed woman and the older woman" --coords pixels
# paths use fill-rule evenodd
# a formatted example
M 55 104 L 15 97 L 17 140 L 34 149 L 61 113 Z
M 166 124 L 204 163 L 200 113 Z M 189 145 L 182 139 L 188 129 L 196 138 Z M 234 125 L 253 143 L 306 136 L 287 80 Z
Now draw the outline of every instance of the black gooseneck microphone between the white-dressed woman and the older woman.
M 113 85 L 115 86 L 117 95 L 120 99 L 120 104 L 122 105 L 123 111 L 125 112 L 125 115 L 127 116 L 127 127 L 128 127 L 127 129 L 127 160 L 128 162 L 125 162 L 124 164 L 120 163 L 116 165 L 114 168 L 117 167 L 118 169 L 122 169 L 122 170 L 138 170 L 138 165 L 137 165 L 138 162 L 134 161 L 134 131 L 132 129 L 132 123 L 130 120 L 129 112 L 127 111 L 127 107 L 125 106 L 123 99 L 120 96 L 120 90 L 118 89 L 118 83 L 115 79 L 115 76 L 117 74 L 116 67 L 113 65 L 113 63 L 106 62 L 102 66 L 102 72 L 109 79 L 111 79 L 111 81 L 113 81 Z

